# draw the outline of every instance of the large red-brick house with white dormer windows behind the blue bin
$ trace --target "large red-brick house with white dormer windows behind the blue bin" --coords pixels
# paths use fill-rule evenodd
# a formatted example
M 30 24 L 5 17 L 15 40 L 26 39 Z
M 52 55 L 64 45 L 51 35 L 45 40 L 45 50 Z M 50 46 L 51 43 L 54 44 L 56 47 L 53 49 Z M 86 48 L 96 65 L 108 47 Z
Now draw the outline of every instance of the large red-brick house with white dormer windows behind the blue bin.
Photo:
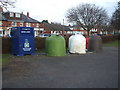
M 29 12 L 27 12 L 27 15 L 23 14 L 23 12 L 3 12 L 3 9 L 0 7 L 0 36 L 8 36 L 12 27 L 22 26 L 34 27 L 34 34 L 38 36 L 44 25 L 31 18 Z

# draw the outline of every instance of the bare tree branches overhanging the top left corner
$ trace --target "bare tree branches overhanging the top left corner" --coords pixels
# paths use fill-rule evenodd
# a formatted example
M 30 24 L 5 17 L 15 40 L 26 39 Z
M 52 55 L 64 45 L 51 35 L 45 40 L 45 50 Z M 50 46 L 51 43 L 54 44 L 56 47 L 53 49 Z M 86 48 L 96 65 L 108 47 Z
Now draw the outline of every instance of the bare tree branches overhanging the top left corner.
M 15 7 L 16 0 L 0 0 L 0 7 L 7 9 L 8 7 Z

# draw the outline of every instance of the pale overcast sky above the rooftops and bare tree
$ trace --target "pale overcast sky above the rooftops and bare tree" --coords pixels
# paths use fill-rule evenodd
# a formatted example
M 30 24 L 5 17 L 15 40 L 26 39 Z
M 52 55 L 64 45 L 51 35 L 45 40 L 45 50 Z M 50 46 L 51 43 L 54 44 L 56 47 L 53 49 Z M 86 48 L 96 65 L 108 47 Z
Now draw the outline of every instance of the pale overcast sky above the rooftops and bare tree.
M 16 8 L 10 8 L 10 11 L 30 13 L 30 17 L 38 21 L 48 20 L 49 22 L 58 22 L 68 24 L 65 18 L 66 11 L 82 3 L 96 4 L 106 9 L 111 16 L 115 11 L 117 2 L 120 0 L 17 0 Z

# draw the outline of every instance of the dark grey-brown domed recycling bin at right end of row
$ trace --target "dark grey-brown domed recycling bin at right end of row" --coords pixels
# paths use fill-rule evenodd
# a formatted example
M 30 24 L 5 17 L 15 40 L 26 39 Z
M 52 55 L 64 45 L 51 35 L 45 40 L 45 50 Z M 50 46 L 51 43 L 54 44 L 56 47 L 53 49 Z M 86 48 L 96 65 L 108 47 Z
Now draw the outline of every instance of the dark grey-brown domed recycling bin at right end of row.
M 97 34 L 90 36 L 88 40 L 88 51 L 100 52 L 102 50 L 102 38 Z

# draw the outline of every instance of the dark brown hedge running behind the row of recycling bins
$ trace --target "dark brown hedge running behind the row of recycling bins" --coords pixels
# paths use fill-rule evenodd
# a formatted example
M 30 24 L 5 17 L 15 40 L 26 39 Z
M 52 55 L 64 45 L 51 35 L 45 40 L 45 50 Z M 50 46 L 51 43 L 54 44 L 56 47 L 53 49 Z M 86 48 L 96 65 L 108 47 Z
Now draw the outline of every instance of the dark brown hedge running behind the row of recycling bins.
M 68 47 L 68 40 L 70 35 L 64 35 L 66 47 Z M 45 49 L 46 38 L 35 37 L 35 50 Z M 103 43 L 120 40 L 120 36 L 102 36 Z M 2 37 L 2 53 L 11 53 L 11 38 Z

